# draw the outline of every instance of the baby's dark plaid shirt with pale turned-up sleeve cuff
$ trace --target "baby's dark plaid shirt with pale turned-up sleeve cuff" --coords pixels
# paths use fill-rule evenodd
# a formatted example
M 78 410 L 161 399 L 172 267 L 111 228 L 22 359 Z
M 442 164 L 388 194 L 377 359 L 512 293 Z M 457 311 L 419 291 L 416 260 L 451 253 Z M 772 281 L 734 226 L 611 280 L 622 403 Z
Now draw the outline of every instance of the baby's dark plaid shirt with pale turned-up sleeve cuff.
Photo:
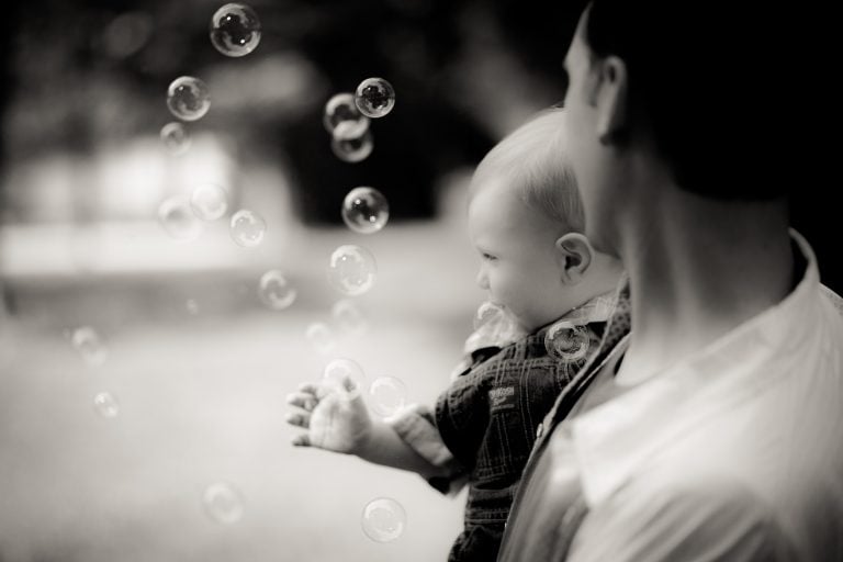
M 468 484 L 465 528 L 449 560 L 494 560 L 541 422 L 597 349 L 612 302 L 595 297 L 514 342 L 474 349 L 432 412 L 414 406 L 392 422 L 419 454 L 449 469 L 431 485 L 454 492 Z M 572 339 L 578 348 L 564 345 Z

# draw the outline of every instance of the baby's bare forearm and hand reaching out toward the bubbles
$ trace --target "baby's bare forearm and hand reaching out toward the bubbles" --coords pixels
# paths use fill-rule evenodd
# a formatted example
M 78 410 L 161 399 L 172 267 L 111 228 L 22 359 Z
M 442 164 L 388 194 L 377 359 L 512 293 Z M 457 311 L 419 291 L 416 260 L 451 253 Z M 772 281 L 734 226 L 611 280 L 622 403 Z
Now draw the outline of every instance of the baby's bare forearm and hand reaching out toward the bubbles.
M 286 422 L 306 429 L 293 439 L 295 446 L 355 454 L 375 464 L 416 472 L 425 479 L 443 474 L 443 469 L 417 453 L 389 424 L 369 415 L 349 379 L 341 383 L 304 383 L 286 402 L 296 407 L 288 414 Z

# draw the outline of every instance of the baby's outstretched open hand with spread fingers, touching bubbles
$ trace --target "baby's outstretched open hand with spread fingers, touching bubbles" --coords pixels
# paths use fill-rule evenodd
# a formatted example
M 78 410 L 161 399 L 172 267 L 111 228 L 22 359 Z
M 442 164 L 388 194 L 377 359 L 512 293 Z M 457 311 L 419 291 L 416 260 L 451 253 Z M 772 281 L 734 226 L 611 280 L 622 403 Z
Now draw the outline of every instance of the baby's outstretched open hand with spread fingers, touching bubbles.
M 307 430 L 293 439 L 297 447 L 356 454 L 370 437 L 369 411 L 348 378 L 303 383 L 286 396 L 286 403 L 296 407 L 286 415 L 286 423 Z

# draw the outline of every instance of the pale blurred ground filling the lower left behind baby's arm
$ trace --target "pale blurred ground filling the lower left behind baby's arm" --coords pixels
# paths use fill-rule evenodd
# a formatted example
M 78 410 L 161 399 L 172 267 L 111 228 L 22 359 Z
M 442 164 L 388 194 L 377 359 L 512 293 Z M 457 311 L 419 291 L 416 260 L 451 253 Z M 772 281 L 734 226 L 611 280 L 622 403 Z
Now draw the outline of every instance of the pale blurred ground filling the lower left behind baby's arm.
M 463 496 L 293 448 L 283 417 L 285 394 L 333 357 L 355 359 L 369 381 L 402 379 L 414 402 L 429 403 L 447 385 L 482 299 L 461 221 L 387 225 L 370 237 L 291 228 L 257 250 L 213 233 L 179 245 L 145 228 L 3 233 L 15 300 L 0 318 L 0 561 L 445 560 Z M 319 355 L 304 331 L 330 319 L 340 295 L 323 268 L 349 241 L 379 260 L 375 286 L 357 300 L 370 329 Z M 98 260 L 91 244 L 113 257 Z M 71 263 L 38 273 L 37 256 L 68 255 L 63 247 Z M 203 252 L 217 259 L 196 258 Z M 179 270 L 191 259 L 195 267 Z M 269 267 L 300 288 L 288 311 L 257 300 Z M 68 341 L 66 330 L 79 325 L 108 341 L 103 364 L 87 364 Z M 102 391 L 119 401 L 114 418 L 93 407 Z M 203 491 L 218 481 L 244 497 L 233 525 L 203 509 Z M 363 506 L 379 496 L 407 513 L 391 543 L 361 530 Z

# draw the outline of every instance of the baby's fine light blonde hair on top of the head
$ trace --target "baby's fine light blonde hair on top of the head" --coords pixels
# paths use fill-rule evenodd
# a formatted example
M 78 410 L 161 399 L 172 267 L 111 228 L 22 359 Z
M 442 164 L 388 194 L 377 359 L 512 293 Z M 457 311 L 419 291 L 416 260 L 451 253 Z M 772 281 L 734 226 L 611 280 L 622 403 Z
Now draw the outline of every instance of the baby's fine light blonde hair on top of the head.
M 495 145 L 477 165 L 469 196 L 488 180 L 506 181 L 528 206 L 582 233 L 585 216 L 562 138 L 563 119 L 561 108 L 544 110 Z

